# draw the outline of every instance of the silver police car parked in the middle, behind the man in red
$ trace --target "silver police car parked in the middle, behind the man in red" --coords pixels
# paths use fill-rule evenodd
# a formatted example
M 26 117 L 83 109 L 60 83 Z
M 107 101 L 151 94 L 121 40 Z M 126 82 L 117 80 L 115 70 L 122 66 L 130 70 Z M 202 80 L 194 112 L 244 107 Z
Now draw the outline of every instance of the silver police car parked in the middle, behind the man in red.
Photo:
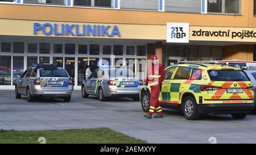
M 96 69 L 82 82 L 82 97 L 98 96 L 100 101 L 108 98 L 133 98 L 139 100 L 143 81 L 126 68 Z

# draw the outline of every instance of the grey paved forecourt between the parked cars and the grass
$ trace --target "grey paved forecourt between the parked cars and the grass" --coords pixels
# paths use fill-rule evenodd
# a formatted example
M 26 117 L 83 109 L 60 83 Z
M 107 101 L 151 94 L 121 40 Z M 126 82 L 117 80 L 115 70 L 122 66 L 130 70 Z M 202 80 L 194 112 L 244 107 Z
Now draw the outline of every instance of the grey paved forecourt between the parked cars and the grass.
M 231 115 L 205 115 L 186 120 L 181 112 L 163 108 L 164 118 L 147 119 L 141 103 L 132 99 L 100 102 L 73 91 L 71 102 L 15 99 L 14 91 L 0 91 L 0 129 L 44 130 L 108 127 L 148 143 L 256 143 L 256 115 L 234 120 Z

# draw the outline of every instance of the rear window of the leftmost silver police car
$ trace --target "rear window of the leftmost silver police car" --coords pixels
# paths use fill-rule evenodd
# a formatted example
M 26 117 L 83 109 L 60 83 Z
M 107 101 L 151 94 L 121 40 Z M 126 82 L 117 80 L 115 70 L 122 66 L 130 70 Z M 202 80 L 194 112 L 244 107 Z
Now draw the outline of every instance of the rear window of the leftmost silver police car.
M 68 77 L 67 72 L 64 69 L 39 69 L 40 77 Z

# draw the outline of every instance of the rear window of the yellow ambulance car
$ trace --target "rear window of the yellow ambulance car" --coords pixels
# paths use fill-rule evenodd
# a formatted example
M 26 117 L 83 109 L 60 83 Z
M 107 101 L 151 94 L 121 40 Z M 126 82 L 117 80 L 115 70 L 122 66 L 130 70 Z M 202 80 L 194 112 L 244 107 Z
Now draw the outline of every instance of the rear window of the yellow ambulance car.
M 208 70 L 211 81 L 249 81 L 242 70 Z

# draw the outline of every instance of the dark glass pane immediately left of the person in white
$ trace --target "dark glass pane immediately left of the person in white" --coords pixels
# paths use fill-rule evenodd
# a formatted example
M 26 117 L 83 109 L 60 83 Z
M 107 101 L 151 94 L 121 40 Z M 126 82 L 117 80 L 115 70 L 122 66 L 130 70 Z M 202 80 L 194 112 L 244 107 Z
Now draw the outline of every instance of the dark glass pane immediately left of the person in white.
M 77 77 L 77 85 L 81 86 L 82 81 L 85 79 L 85 71 L 88 68 L 88 58 L 87 57 L 79 57 L 78 62 L 78 77 Z

